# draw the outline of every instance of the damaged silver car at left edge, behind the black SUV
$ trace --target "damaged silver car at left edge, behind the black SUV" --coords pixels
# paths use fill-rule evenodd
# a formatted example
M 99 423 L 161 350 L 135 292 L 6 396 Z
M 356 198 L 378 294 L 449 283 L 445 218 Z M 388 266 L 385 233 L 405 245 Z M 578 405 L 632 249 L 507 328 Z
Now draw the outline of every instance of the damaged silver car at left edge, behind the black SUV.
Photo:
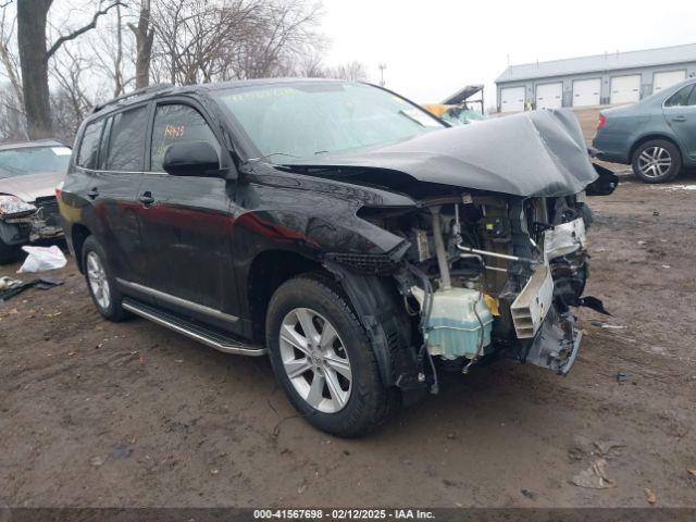
M 22 245 L 62 235 L 55 187 L 71 153 L 53 139 L 0 145 L 0 264 Z

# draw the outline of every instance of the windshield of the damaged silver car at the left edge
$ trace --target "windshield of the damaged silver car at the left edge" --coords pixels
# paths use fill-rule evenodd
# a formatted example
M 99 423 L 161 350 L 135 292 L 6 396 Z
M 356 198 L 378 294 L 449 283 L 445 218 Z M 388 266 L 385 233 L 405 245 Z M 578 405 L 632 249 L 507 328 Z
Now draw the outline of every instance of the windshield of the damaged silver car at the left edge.
M 0 150 L 0 178 L 67 171 L 69 147 L 25 147 Z

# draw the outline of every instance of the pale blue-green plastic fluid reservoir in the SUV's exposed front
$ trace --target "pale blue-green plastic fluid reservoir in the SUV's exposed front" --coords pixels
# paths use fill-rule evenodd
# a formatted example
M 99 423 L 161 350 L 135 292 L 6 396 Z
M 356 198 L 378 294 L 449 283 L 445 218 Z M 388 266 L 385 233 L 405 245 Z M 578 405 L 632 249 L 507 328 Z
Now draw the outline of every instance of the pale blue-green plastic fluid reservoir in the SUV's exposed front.
M 433 294 L 426 340 L 431 355 L 472 359 L 490 344 L 492 328 L 493 314 L 478 290 L 449 288 Z

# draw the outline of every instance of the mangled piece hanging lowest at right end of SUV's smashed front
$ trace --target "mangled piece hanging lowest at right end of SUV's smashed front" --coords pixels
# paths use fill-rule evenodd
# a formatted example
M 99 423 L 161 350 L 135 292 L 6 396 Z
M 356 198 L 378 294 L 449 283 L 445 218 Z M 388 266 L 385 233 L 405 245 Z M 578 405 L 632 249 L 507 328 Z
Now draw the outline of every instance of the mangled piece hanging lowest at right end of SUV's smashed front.
M 575 362 L 581 339 L 582 331 L 575 328 L 573 315 L 552 309 L 526 349 L 523 362 L 566 375 Z

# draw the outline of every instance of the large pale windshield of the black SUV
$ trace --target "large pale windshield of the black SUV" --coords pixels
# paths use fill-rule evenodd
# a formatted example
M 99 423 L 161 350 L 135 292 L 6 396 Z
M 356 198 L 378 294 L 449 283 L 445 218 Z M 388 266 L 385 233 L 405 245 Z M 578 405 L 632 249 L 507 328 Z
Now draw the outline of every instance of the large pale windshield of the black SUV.
M 223 91 L 216 98 L 259 156 L 274 163 L 402 141 L 444 128 L 422 109 L 362 84 L 261 85 Z

